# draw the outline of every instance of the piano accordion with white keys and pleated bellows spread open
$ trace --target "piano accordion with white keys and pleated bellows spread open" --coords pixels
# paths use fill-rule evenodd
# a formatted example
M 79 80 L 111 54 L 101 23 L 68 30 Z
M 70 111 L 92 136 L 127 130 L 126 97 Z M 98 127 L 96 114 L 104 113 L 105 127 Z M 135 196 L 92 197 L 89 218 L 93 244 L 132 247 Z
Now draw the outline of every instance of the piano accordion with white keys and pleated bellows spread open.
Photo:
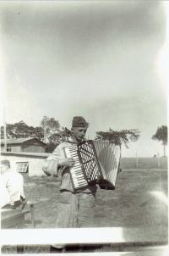
M 64 148 L 66 158 L 75 161 L 70 168 L 74 189 L 99 184 L 101 189 L 115 189 L 120 162 L 120 146 L 106 141 L 87 141 Z

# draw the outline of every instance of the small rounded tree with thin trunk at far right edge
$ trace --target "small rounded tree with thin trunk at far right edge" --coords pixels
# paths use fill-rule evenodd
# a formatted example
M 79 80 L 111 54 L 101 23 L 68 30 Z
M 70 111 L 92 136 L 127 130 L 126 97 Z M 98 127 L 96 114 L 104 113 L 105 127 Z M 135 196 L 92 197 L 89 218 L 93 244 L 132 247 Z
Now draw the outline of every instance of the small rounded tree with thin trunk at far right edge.
M 152 140 L 157 140 L 159 142 L 162 142 L 162 145 L 164 145 L 164 156 L 165 157 L 166 157 L 167 134 L 168 134 L 167 126 L 162 125 L 161 127 L 157 128 L 155 135 L 153 135 L 151 138 Z

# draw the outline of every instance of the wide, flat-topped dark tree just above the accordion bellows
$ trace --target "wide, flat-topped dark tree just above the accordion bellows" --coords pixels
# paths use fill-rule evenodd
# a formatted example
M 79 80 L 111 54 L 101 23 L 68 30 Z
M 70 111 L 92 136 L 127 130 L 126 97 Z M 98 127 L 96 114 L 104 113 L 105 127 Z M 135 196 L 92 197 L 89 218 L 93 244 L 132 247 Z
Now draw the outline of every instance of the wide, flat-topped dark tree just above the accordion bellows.
M 102 139 L 120 147 L 124 144 L 128 148 L 129 142 L 137 142 L 139 140 L 139 133 L 138 129 L 112 131 L 112 128 L 109 128 L 106 132 L 96 131 L 95 140 Z

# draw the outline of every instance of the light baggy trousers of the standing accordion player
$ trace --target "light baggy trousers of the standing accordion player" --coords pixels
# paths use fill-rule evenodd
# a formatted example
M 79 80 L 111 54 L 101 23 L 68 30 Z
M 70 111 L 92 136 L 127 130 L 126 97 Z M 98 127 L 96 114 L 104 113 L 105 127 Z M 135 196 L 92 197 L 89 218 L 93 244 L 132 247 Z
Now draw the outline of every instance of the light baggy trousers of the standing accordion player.
M 61 192 L 56 228 L 93 227 L 94 218 L 95 192 Z M 52 244 L 52 246 L 64 248 L 65 244 Z

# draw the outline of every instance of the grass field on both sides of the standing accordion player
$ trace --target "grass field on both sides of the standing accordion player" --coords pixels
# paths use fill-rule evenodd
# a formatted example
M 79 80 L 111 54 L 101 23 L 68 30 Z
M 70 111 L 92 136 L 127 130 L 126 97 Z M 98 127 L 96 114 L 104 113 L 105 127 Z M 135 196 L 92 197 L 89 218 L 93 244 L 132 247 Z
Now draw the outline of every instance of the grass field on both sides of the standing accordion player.
M 35 204 L 35 228 L 54 228 L 57 203 L 59 197 L 60 179 L 54 177 L 29 177 L 25 179 L 25 196 Z M 155 236 L 156 227 L 160 227 L 161 241 L 167 240 L 168 209 L 165 198 L 168 195 L 166 170 L 125 170 L 117 177 L 115 191 L 98 188 L 96 192 L 95 227 L 150 227 Z M 25 223 L 30 223 L 30 214 L 25 217 Z M 27 226 L 29 227 L 29 225 Z M 158 229 L 159 230 L 159 229 Z M 159 236 L 159 233 L 158 233 Z M 38 253 L 34 247 L 34 253 Z M 47 253 L 49 246 L 41 246 L 40 253 Z M 99 250 L 109 251 L 108 248 Z M 8 247 L 3 247 L 2 253 L 11 253 Z M 25 247 L 26 253 L 32 249 Z M 95 252 L 97 249 L 95 249 Z

